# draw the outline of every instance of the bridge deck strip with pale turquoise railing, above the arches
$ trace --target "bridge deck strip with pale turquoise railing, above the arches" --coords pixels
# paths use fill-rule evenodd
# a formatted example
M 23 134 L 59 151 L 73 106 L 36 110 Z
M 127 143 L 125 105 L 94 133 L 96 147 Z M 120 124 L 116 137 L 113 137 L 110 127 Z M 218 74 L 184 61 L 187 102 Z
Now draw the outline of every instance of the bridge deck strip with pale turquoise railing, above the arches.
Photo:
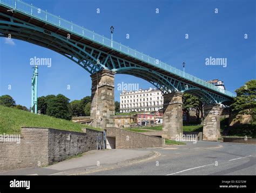
M 15 11 L 14 13 L 10 11 L 7 12 L 8 9 L 15 9 Z M 118 56 L 121 59 L 125 59 L 143 67 L 147 67 L 161 74 L 172 76 L 177 80 L 195 85 L 198 88 L 202 88 L 228 98 L 232 98 L 235 96 L 232 92 L 215 87 L 214 85 L 206 81 L 200 80 L 195 76 L 187 73 L 183 75 L 183 72 L 181 70 L 171 67 L 164 62 L 153 59 L 150 56 L 139 53 L 115 41 L 112 41 L 111 44 L 110 39 L 86 30 L 84 27 L 80 27 L 60 17 L 54 16 L 51 13 L 43 10 L 40 10 L 41 13 L 38 13 L 38 8 L 22 1 L 0 0 L 0 11 L 14 18 L 24 20 L 27 23 L 42 27 L 49 32 L 54 32 L 56 34 L 62 35 L 63 37 L 66 37 L 67 34 L 72 34 L 71 40 L 75 40 L 78 43 L 81 42 L 82 44 L 89 45 L 92 48 L 96 48 L 105 53 Z

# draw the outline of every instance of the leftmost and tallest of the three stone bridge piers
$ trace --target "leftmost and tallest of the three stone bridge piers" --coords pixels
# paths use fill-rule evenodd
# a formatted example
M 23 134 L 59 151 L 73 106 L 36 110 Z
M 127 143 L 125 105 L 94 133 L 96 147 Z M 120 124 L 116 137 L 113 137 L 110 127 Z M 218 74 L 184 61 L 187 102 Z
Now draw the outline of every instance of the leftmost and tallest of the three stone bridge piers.
M 114 127 L 114 74 L 103 69 L 91 75 L 91 113 L 93 126 Z

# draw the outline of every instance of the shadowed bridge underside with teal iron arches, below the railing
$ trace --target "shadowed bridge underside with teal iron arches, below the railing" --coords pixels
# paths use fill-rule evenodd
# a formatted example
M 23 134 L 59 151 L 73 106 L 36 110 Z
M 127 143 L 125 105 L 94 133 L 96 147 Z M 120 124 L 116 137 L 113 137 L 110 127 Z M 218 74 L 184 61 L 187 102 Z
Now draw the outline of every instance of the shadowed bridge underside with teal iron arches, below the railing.
M 0 36 L 19 39 L 64 55 L 90 74 L 109 69 L 129 74 L 152 83 L 163 94 L 173 91 L 190 92 L 207 104 L 230 103 L 230 97 L 203 87 L 144 61 L 132 58 L 90 39 L 82 38 L 55 25 L 42 22 L 18 11 L 7 12 L 0 6 Z M 104 39 L 103 39 L 104 41 Z

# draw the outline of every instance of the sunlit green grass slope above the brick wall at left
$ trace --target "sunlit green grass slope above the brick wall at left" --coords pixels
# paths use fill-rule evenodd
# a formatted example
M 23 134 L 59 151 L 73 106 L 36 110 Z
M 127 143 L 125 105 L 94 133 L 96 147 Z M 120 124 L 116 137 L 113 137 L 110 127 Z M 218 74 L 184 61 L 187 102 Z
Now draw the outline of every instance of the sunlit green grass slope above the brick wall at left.
M 59 130 L 76 132 L 83 132 L 82 128 L 92 128 L 94 130 L 102 131 L 100 128 L 73 123 L 69 120 L 57 119 L 46 115 L 35 115 L 28 111 L 0 105 L 0 134 L 21 133 L 22 126 L 56 128 Z

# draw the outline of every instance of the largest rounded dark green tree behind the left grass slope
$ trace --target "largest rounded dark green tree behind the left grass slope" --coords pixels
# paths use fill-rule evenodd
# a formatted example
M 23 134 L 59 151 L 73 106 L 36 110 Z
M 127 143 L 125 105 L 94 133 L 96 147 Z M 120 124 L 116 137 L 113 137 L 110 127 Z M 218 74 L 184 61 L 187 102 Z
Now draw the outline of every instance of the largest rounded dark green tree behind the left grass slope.
M 69 104 L 70 99 L 64 95 L 58 94 L 56 97 L 49 97 L 47 102 L 46 115 L 71 120 L 72 110 Z

